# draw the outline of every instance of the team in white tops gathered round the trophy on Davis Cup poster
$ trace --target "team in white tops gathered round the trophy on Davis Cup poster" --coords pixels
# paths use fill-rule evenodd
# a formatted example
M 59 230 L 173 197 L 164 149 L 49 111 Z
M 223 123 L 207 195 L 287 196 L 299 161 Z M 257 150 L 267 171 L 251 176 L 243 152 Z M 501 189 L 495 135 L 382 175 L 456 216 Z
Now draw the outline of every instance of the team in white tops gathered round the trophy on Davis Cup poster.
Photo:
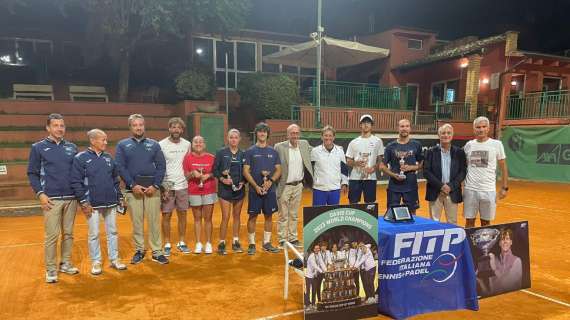
M 305 305 L 315 306 L 317 299 L 321 301 L 322 282 L 326 271 L 334 269 L 335 263 L 344 262 L 352 270 L 356 292 L 360 292 L 360 281 L 368 303 L 375 301 L 374 279 L 376 262 L 371 244 L 364 242 L 333 243 L 329 250 L 326 241 L 318 241 L 311 248 L 307 257 L 305 274 Z M 377 258 L 376 258 L 377 259 Z

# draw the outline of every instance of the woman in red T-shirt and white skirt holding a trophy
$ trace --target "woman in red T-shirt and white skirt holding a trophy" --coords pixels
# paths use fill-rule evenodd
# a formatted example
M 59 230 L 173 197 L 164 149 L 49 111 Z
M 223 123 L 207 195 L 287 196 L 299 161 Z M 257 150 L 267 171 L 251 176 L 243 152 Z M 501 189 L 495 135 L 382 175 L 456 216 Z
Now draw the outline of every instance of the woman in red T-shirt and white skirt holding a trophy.
M 206 143 L 201 136 L 192 139 L 192 152 L 184 157 L 182 167 L 188 179 L 188 201 L 194 214 L 194 233 L 196 236 L 195 254 L 212 253 L 212 213 L 216 195 L 216 179 L 212 173 L 214 156 L 206 152 Z M 206 246 L 201 242 L 202 226 L 206 233 Z

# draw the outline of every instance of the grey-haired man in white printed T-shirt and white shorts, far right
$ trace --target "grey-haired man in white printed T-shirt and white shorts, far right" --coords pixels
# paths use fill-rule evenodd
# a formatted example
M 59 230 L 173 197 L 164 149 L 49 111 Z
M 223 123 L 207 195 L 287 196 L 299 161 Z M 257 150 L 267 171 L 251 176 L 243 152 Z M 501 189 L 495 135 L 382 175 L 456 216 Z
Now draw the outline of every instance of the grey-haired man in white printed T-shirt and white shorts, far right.
M 501 169 L 499 199 L 505 198 L 509 190 L 505 148 L 501 141 L 489 137 L 489 119 L 478 117 L 473 121 L 473 129 L 476 139 L 467 142 L 463 147 L 467 158 L 467 176 L 463 192 L 466 228 L 475 226 L 478 212 L 481 226 L 490 225 L 495 219 L 497 164 Z

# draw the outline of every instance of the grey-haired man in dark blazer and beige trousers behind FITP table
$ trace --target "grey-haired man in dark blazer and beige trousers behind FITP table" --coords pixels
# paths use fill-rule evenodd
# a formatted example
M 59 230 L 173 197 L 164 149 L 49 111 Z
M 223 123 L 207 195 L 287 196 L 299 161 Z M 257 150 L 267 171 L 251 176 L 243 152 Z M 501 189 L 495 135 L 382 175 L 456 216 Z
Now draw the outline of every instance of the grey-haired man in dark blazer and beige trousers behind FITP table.
M 424 161 L 427 179 L 426 200 L 433 220 L 439 221 L 445 209 L 447 222 L 457 224 L 457 206 L 463 201 L 461 182 L 465 179 L 465 153 L 451 145 L 453 127 L 446 123 L 437 130 L 439 145 L 428 150 Z

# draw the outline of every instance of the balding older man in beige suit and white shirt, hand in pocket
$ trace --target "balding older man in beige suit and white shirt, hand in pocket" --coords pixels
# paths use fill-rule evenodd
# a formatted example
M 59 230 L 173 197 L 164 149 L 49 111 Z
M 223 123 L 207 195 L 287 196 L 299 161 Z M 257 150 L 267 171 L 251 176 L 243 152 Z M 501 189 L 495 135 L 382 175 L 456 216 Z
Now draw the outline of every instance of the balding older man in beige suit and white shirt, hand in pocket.
M 300 140 L 301 128 L 292 124 L 287 127 L 287 141 L 277 143 L 275 150 L 281 160 L 281 178 L 277 186 L 279 204 L 279 247 L 289 241 L 302 247 L 297 237 L 297 213 L 301 204 L 303 185 L 313 184 L 311 150 L 307 140 Z

